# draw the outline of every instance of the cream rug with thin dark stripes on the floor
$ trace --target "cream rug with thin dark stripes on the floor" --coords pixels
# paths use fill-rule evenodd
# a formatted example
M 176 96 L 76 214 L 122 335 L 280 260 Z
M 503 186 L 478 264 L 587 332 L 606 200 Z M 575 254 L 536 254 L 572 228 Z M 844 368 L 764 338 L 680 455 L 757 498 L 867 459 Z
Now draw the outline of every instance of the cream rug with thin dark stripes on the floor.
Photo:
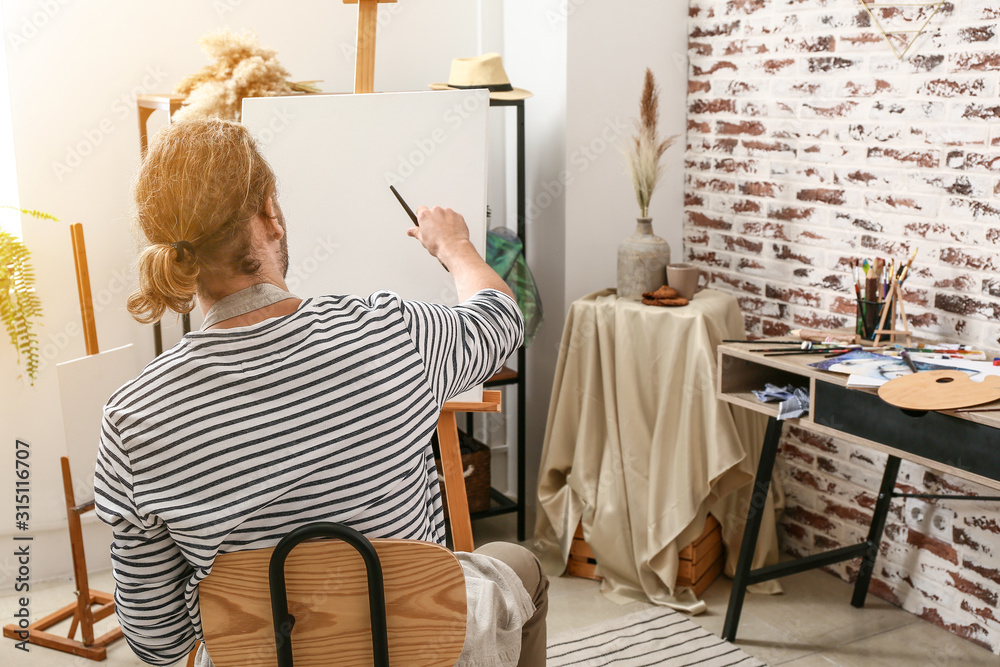
M 549 638 L 548 667 L 757 667 L 729 642 L 672 609 L 656 607 Z

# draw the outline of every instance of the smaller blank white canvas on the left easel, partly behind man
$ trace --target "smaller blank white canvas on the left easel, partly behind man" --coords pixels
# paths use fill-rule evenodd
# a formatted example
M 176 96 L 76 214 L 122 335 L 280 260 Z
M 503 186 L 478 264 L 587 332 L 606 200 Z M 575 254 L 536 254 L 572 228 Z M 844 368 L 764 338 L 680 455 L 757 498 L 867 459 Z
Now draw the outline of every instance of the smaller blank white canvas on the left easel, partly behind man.
M 94 498 L 94 466 L 104 404 L 140 370 L 132 345 L 56 364 L 66 450 L 78 504 Z

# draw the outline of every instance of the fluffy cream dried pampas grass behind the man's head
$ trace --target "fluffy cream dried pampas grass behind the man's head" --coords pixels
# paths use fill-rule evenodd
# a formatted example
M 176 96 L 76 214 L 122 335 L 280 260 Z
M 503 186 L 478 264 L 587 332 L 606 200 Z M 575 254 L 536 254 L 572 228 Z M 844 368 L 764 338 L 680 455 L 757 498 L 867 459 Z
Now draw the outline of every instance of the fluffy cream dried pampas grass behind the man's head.
M 262 47 L 252 30 L 213 32 L 198 43 L 214 62 L 177 84 L 175 92 L 187 95 L 187 100 L 174 115 L 175 120 L 208 117 L 240 120 L 244 97 L 318 92 L 311 85 L 315 81 L 288 81 L 290 75 L 278 62 L 277 52 Z

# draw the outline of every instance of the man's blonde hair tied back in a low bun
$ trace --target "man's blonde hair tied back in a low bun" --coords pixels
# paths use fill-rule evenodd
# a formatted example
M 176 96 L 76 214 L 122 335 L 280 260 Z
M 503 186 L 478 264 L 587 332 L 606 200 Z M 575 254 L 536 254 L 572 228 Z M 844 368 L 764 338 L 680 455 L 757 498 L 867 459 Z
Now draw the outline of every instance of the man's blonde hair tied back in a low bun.
M 187 120 L 157 133 L 133 187 L 145 247 L 132 317 L 148 324 L 167 309 L 191 312 L 199 277 L 256 274 L 250 221 L 275 195 L 274 172 L 243 125 Z

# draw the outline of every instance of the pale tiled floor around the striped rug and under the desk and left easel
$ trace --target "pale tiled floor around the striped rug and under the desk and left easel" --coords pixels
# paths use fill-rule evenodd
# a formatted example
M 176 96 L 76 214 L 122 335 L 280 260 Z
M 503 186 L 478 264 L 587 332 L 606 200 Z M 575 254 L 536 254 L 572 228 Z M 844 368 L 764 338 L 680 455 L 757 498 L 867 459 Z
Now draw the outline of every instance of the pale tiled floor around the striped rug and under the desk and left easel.
M 529 525 L 530 522 L 529 522 Z M 513 539 L 512 516 L 475 524 L 476 543 Z M 530 530 L 529 530 L 530 532 Z M 528 546 L 528 543 L 525 543 Z M 965 667 L 1000 665 L 1000 657 L 916 616 L 869 597 L 864 609 L 850 606 L 851 587 L 828 574 L 807 572 L 783 580 L 785 594 L 748 595 L 737 644 L 768 665 L 787 667 Z M 91 586 L 110 591 L 109 572 L 94 573 Z M 559 577 L 549 589 L 549 633 L 584 627 L 640 611 L 641 602 L 619 606 L 600 594 L 600 584 Z M 33 587 L 32 610 L 48 613 L 71 601 L 73 586 L 56 581 Z M 729 599 L 729 581 L 720 579 L 704 596 L 708 612 L 693 620 L 718 634 Z M 12 596 L 0 598 L 0 622 L 14 611 Z M 105 624 L 112 623 L 109 619 Z M 0 664 L 17 667 L 87 667 L 96 663 L 37 646 L 29 653 L 0 640 Z M 139 666 L 124 641 L 108 649 L 108 667 Z M 183 663 L 181 663 L 183 664 Z

